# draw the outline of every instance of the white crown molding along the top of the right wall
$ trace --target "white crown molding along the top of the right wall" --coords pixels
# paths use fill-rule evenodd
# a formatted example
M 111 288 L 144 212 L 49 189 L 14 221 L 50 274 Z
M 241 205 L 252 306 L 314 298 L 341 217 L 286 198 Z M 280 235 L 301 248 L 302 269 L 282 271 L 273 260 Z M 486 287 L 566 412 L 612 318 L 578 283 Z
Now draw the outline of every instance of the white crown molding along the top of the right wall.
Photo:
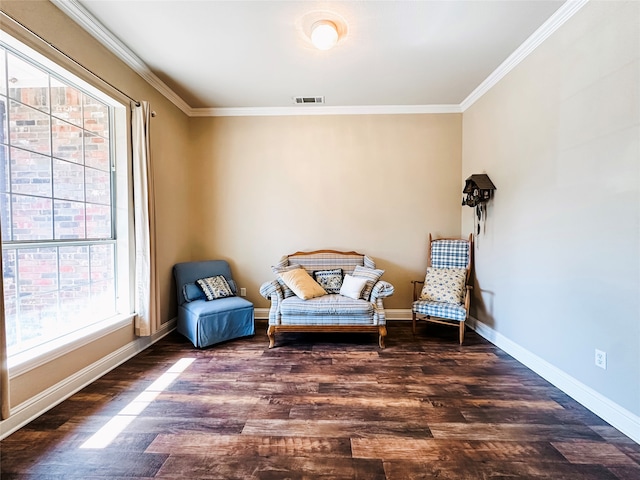
M 589 0 L 568 0 L 549 19 L 543 23 L 522 45 L 520 45 L 507 59 L 496 68 L 476 89 L 460 104 L 460 110 L 465 112 L 471 105 L 487 93 L 496 83 L 502 80 L 520 62 L 529 56 L 553 32 L 565 24 Z

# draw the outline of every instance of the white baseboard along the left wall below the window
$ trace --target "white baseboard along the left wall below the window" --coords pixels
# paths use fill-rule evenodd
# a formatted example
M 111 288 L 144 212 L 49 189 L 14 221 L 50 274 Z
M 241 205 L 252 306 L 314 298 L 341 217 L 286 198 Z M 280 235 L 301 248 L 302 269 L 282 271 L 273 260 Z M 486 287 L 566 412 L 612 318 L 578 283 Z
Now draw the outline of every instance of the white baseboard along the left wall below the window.
M 97 362 L 83 368 L 63 381 L 47 388 L 26 402 L 11 409 L 11 416 L 0 422 L 0 440 L 11 435 L 27 423 L 39 417 L 47 410 L 69 398 L 74 393 L 82 390 L 90 383 L 96 381 L 117 366 L 136 356 L 144 349 L 160 340 L 175 329 L 176 319 L 162 324 L 151 337 L 139 337 L 133 342 L 124 345 Z

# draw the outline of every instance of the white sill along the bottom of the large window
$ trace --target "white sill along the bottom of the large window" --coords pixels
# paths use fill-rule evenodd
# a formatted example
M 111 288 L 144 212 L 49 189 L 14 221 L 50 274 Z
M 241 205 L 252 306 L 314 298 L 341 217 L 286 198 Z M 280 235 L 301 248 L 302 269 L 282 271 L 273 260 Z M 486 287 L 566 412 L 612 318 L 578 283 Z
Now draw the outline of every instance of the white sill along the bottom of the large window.
M 8 358 L 9 377 L 22 375 L 116 330 L 128 325 L 133 326 L 134 316 L 135 314 L 130 313 L 111 317 L 25 352 L 12 355 Z

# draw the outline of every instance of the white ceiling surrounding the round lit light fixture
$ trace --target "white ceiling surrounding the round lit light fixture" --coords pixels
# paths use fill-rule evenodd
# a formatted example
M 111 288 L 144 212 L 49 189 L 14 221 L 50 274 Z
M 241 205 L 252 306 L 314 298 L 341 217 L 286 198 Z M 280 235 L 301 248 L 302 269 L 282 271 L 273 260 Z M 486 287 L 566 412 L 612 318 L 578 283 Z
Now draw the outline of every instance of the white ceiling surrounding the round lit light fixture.
M 52 1 L 195 110 L 293 107 L 294 96 L 324 96 L 329 107 L 459 106 L 566 8 L 564 0 Z M 328 51 L 307 36 L 319 12 L 347 28 Z

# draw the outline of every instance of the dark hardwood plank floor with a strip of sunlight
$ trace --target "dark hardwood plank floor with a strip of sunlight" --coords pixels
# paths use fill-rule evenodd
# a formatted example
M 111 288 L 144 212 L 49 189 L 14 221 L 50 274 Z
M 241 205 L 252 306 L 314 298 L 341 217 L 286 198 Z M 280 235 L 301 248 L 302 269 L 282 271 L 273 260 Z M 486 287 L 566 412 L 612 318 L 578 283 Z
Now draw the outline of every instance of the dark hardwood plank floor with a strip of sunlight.
M 474 332 L 269 350 L 256 329 L 206 350 L 172 333 L 4 439 L 1 478 L 640 479 L 640 445 Z

